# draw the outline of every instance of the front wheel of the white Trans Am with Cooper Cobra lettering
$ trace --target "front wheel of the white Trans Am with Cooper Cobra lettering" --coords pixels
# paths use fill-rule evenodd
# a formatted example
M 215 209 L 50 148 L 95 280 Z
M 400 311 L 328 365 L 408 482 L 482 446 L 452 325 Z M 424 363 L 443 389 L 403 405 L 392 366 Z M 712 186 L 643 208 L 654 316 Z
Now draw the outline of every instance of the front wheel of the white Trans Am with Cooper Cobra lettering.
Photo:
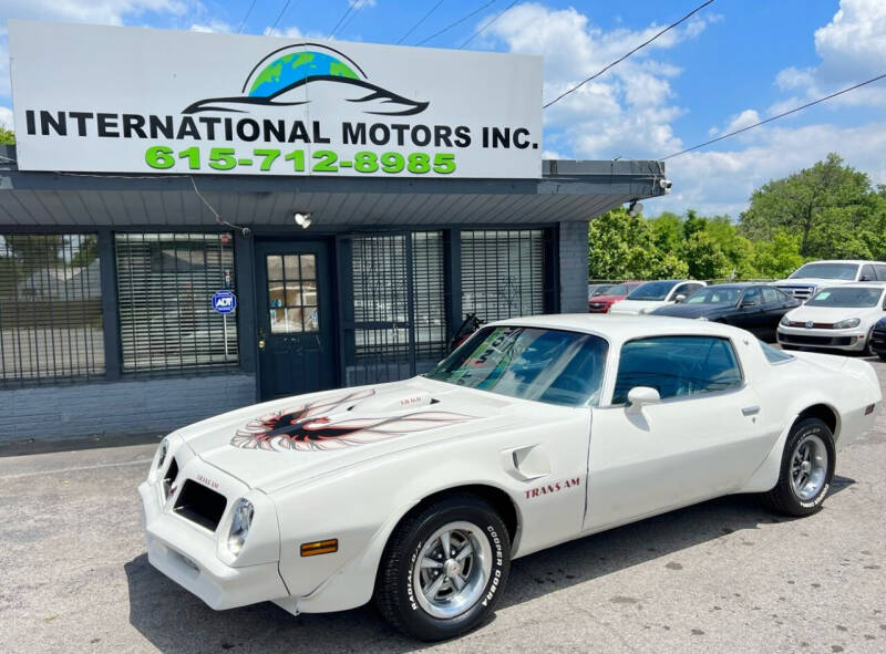
M 509 568 L 511 538 L 498 515 L 476 496 L 453 495 L 394 530 L 379 565 L 375 604 L 411 636 L 451 639 L 495 610 Z

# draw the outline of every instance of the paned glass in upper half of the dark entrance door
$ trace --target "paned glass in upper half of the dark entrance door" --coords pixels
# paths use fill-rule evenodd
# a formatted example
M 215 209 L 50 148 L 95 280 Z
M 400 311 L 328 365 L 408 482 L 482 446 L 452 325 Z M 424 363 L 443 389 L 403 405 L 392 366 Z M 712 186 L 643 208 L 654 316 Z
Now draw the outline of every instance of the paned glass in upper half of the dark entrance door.
M 269 255 L 268 312 L 272 334 L 320 331 L 313 255 Z

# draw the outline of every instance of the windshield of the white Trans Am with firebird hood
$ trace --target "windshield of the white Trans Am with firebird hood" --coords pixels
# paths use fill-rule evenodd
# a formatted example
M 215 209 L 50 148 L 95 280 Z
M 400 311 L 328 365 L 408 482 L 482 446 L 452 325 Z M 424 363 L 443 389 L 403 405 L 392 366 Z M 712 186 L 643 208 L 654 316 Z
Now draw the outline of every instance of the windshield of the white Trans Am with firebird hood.
M 483 328 L 425 376 L 508 397 L 596 406 L 608 343 L 591 334 Z

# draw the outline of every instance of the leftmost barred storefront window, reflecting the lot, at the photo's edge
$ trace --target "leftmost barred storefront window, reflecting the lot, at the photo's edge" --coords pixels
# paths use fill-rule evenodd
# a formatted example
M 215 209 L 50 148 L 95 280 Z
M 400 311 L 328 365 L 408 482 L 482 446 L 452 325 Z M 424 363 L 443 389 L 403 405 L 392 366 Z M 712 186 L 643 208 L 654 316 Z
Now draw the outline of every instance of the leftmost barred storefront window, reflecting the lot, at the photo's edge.
M 0 235 L 0 383 L 104 374 L 94 235 Z

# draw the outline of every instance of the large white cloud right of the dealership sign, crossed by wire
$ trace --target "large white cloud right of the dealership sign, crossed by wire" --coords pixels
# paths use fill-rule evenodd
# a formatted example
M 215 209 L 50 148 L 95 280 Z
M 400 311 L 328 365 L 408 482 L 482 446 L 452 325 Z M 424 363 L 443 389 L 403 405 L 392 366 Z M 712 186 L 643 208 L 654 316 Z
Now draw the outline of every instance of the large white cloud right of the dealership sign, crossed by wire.
M 670 123 L 683 112 L 671 89 L 680 70 L 653 53 L 697 38 L 710 20 L 693 17 L 546 110 L 545 145 L 584 158 L 649 157 L 679 149 Z M 484 35 L 503 41 L 511 52 L 544 55 L 544 97 L 550 101 L 660 30 L 657 24 L 604 30 L 576 9 L 525 3 L 502 14 Z

